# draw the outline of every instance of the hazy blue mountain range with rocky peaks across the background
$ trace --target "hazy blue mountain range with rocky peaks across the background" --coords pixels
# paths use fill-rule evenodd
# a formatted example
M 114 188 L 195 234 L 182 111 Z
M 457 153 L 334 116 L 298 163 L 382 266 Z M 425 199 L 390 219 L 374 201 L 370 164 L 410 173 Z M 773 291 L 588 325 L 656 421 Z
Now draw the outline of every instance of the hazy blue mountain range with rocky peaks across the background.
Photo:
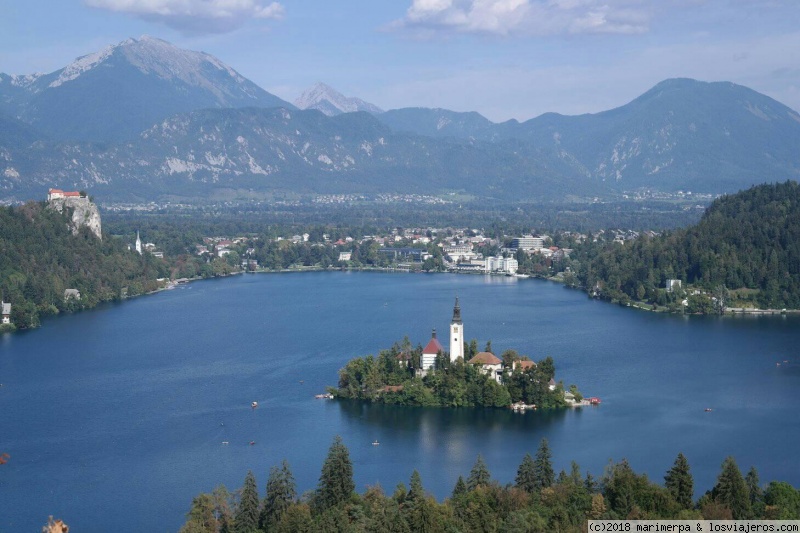
M 0 74 L 7 200 L 48 187 L 128 201 L 726 193 L 797 179 L 799 148 L 797 112 L 728 82 L 670 79 L 609 111 L 498 124 L 475 112 L 384 112 L 324 84 L 290 104 L 213 56 L 152 37 L 46 75 Z

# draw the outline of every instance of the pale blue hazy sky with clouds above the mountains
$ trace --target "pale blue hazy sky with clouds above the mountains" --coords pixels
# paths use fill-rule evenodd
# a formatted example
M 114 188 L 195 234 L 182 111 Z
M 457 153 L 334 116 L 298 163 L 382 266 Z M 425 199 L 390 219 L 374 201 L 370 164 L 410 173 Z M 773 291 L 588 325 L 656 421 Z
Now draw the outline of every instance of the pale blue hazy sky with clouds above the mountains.
M 527 120 L 690 77 L 800 110 L 798 0 L 6 0 L 0 72 L 52 72 L 145 34 L 288 101 L 322 81 L 384 109 Z

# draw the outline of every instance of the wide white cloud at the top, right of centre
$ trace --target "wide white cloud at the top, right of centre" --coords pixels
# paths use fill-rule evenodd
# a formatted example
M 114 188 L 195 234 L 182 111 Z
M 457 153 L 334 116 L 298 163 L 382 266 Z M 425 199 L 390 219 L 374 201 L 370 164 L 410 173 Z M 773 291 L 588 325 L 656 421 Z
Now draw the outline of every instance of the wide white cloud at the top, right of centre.
M 642 0 L 412 0 L 394 29 L 493 35 L 644 33 Z

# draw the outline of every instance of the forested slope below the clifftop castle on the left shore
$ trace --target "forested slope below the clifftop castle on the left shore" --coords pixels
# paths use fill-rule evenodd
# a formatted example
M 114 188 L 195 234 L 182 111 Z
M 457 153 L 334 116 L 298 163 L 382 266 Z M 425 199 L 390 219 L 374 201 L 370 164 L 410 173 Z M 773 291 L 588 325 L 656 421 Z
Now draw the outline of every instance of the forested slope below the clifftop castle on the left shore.
M 100 240 L 87 228 L 73 235 L 70 216 L 44 202 L 0 207 L 0 291 L 17 328 L 155 290 L 158 278 L 169 276 L 163 261 L 129 251 L 119 239 Z M 67 289 L 80 298 L 65 296 Z

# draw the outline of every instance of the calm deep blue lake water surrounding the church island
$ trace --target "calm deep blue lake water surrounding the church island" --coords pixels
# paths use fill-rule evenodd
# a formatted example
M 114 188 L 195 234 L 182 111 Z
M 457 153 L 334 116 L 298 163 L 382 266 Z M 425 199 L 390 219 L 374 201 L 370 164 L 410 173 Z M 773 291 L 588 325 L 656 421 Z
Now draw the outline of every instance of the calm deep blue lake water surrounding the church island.
M 456 295 L 465 338 L 551 355 L 557 379 L 602 405 L 522 415 L 314 399 L 350 358 L 446 332 Z M 0 337 L 0 383 L 0 453 L 11 455 L 0 466 L 0 532 L 38 531 L 49 515 L 74 531 L 177 531 L 193 496 L 239 488 L 248 470 L 263 496 L 284 458 L 299 491 L 313 489 L 337 434 L 360 491 L 391 492 L 416 468 L 441 499 L 479 453 L 511 482 L 542 437 L 556 470 L 575 460 L 599 477 L 627 458 L 661 481 L 683 452 L 700 494 L 733 455 L 762 481 L 800 485 L 797 317 L 646 313 L 539 280 L 321 272 L 196 282 Z

